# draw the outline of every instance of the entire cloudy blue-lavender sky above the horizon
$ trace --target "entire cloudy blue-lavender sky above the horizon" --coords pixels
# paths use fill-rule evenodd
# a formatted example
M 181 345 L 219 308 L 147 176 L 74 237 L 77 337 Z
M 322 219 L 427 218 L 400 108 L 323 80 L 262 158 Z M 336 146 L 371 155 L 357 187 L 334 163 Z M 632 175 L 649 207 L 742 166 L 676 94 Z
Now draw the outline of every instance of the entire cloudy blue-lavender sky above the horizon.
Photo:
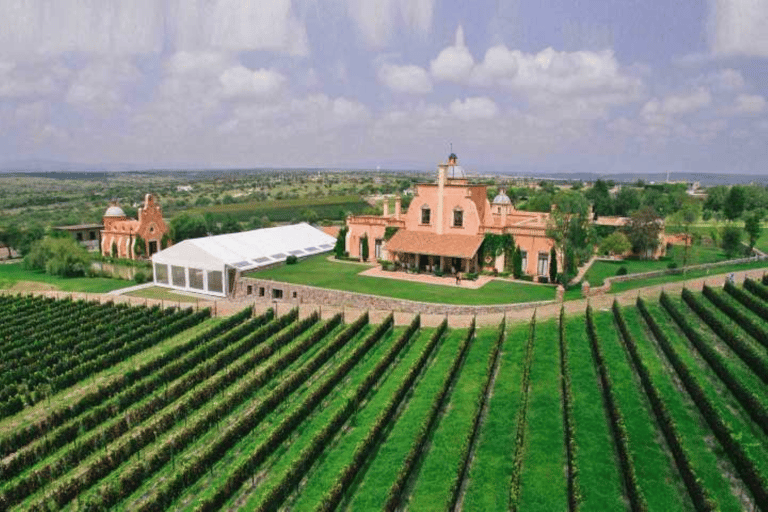
M 0 0 L 0 161 L 768 174 L 768 0 Z

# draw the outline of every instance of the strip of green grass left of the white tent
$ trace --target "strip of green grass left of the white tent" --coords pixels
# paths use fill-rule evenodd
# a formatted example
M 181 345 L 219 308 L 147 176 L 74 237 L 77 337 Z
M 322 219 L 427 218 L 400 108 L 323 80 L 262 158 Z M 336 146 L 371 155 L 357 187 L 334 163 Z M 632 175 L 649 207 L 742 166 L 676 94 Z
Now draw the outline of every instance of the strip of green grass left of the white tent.
M 25 270 L 21 263 L 0 265 L 0 289 L 25 291 L 19 283 L 31 282 L 48 285 L 65 292 L 106 293 L 132 286 L 133 282 L 105 277 L 58 277 L 38 270 Z M 15 288 L 14 288 L 15 287 Z M 33 289 L 30 286 L 29 289 Z

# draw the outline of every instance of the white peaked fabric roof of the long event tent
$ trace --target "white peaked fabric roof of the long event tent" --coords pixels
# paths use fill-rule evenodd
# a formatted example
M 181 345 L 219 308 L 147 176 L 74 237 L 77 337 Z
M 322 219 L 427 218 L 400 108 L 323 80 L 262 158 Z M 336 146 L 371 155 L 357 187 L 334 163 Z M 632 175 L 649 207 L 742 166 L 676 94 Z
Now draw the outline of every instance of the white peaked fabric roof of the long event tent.
M 152 256 L 157 263 L 204 269 L 239 270 L 310 256 L 333 249 L 336 239 L 307 223 L 184 240 Z

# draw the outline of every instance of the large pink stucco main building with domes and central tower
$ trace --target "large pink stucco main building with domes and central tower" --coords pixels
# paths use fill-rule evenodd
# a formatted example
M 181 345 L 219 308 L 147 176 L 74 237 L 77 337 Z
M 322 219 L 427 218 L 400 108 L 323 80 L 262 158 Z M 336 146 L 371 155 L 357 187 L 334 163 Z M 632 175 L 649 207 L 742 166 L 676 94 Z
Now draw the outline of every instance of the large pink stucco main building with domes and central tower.
M 369 259 L 399 261 L 403 265 L 445 272 L 477 272 L 504 268 L 504 255 L 478 261 L 478 249 L 487 233 L 511 234 L 523 253 L 523 272 L 531 276 L 549 273 L 553 242 L 546 236 L 548 213 L 515 210 L 503 191 L 488 201 L 485 185 L 469 183 L 451 154 L 438 166 L 437 182 L 416 186 L 408 211 L 399 198 L 395 211 L 381 216 L 359 215 L 347 219 L 346 249 L 351 257 L 362 256 L 367 240 Z M 389 230 L 387 228 L 390 228 Z M 389 240 L 386 236 L 397 228 Z M 558 263 L 562 264 L 558 255 Z M 561 267 L 562 268 L 562 267 Z

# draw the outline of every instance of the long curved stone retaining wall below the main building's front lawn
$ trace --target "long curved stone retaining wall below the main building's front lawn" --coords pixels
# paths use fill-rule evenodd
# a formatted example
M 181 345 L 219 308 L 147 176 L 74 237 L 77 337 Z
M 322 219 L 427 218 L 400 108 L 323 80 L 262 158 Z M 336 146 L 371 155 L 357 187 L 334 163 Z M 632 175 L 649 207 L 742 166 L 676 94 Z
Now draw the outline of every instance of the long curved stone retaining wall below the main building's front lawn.
M 393 299 L 364 293 L 330 290 L 243 277 L 235 290 L 236 299 L 255 299 L 295 305 L 313 304 L 321 307 L 352 308 L 360 310 L 421 313 L 422 315 L 503 315 L 508 312 L 553 304 L 554 301 L 527 302 L 522 304 L 498 304 L 488 306 L 455 306 L 411 300 Z

